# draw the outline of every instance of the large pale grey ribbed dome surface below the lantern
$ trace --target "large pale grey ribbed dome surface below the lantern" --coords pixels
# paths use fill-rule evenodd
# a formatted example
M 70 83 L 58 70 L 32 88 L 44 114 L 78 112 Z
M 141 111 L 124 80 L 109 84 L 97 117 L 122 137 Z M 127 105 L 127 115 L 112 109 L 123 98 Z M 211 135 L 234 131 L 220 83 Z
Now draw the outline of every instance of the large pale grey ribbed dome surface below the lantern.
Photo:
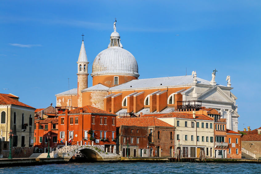
M 123 73 L 139 77 L 136 59 L 121 47 L 108 47 L 96 56 L 91 75 L 100 73 Z

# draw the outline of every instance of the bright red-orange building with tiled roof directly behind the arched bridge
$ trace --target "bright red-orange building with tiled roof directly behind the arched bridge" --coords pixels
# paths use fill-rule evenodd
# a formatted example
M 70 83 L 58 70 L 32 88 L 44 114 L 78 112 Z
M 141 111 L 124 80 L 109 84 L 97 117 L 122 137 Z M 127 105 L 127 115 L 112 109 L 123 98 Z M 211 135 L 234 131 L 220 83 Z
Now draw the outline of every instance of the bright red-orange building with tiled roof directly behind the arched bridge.
M 116 145 L 116 114 L 96 107 L 84 106 L 66 109 L 58 114 L 60 143 L 83 141 L 99 144 L 113 152 Z

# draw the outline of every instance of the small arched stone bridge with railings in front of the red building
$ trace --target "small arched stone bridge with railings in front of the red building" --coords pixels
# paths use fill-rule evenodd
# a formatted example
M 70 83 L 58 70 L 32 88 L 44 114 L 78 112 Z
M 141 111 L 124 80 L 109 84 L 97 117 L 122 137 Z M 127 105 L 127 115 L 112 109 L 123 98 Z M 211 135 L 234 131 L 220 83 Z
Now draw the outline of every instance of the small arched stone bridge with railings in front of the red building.
M 69 161 L 75 154 L 81 152 L 88 160 L 92 161 L 120 161 L 120 155 L 107 152 L 107 148 L 100 145 L 83 145 L 82 142 L 77 142 L 74 145 L 64 146 L 55 152 L 54 157 L 64 158 Z

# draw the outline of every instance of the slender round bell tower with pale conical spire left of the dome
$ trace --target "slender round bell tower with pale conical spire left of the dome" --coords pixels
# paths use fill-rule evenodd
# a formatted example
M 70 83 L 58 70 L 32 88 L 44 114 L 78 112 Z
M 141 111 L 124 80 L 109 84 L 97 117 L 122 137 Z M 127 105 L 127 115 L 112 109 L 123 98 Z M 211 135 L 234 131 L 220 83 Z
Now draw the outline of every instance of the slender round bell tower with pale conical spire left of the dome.
M 82 35 L 84 36 L 84 35 Z M 82 99 L 83 94 L 82 90 L 88 88 L 88 60 L 86 56 L 86 51 L 84 47 L 84 38 L 80 50 L 80 55 L 77 61 L 77 69 L 78 69 L 78 84 L 77 84 L 77 100 L 78 100 L 78 107 L 82 107 Z

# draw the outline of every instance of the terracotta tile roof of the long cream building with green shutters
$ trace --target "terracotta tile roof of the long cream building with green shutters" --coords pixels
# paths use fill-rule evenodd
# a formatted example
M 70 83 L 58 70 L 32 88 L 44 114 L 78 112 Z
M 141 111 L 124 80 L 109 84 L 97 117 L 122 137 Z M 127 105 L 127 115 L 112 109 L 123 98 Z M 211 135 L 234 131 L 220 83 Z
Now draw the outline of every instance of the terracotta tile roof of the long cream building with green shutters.
M 187 113 L 179 113 L 179 112 L 171 112 L 165 115 L 161 115 L 161 116 L 157 116 L 157 118 L 185 118 L 185 119 L 194 119 L 193 118 L 193 114 L 187 114 Z M 211 120 L 213 121 L 213 119 L 209 118 L 208 116 L 205 115 L 198 115 L 196 114 L 196 118 L 195 119 L 201 119 L 201 120 Z

